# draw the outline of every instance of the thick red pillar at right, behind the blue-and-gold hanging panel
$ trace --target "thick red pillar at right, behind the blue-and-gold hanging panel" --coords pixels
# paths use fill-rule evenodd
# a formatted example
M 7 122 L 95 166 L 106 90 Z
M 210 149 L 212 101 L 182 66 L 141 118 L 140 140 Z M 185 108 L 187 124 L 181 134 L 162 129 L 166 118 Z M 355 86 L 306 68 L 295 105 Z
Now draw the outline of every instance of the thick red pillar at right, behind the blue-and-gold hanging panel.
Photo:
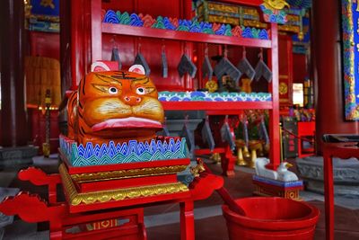
M 321 155 L 325 133 L 358 134 L 358 122 L 344 118 L 339 0 L 312 1 L 312 60 L 315 83 L 316 138 Z

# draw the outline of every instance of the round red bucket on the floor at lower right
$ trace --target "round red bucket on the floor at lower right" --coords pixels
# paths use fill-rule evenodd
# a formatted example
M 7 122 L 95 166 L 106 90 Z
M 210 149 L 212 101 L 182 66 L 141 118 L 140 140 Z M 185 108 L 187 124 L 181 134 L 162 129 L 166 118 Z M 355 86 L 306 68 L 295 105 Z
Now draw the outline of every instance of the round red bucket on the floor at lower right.
M 236 200 L 241 216 L 222 206 L 228 234 L 234 239 L 313 239 L 320 211 L 311 205 L 284 198 L 244 198 Z

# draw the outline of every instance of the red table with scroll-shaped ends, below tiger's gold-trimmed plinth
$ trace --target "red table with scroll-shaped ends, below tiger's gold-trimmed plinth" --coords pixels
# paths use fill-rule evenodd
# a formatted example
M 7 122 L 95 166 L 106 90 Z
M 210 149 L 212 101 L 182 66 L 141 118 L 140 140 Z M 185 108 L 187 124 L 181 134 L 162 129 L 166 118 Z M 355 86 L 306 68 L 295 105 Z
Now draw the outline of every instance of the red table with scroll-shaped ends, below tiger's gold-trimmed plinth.
M 223 178 L 201 173 L 188 186 L 188 191 L 126 200 L 110 200 L 71 208 L 67 201 L 57 201 L 60 174 L 46 174 L 30 167 L 18 177 L 34 185 L 48 186 L 48 201 L 36 194 L 20 192 L 0 203 L 0 212 L 18 215 L 27 222 L 49 222 L 50 239 L 147 239 L 144 227 L 144 207 L 162 203 L 180 204 L 180 239 L 195 239 L 194 201 L 208 198 L 223 186 Z M 81 207 L 81 208 L 80 208 Z M 127 223 L 118 224 L 118 220 Z M 80 232 L 71 232 L 78 227 Z

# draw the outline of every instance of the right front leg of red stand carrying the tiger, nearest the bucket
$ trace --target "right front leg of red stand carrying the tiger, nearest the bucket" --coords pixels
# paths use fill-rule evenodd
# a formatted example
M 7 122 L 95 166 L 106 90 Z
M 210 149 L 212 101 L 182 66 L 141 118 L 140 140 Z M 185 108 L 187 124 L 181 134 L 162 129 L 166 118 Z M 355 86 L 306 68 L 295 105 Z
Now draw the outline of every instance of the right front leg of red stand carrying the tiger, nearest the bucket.
M 193 201 L 180 202 L 180 239 L 195 239 L 195 218 L 193 215 Z

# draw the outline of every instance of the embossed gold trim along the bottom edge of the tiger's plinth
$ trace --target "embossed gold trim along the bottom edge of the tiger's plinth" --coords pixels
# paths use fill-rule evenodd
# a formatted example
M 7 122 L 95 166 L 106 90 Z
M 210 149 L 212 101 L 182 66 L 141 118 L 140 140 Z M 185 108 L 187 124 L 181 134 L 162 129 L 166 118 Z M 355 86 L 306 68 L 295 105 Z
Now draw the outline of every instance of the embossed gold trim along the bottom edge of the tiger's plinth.
M 174 182 L 127 189 L 116 189 L 110 191 L 92 191 L 79 193 L 74 186 L 74 182 L 71 180 L 71 176 L 67 173 L 66 166 L 61 164 L 58 170 L 64 185 L 66 198 L 72 206 L 77 206 L 80 204 L 92 204 L 95 202 L 108 202 L 110 200 L 136 199 L 140 197 L 188 191 L 188 187 L 185 184 L 181 182 Z

